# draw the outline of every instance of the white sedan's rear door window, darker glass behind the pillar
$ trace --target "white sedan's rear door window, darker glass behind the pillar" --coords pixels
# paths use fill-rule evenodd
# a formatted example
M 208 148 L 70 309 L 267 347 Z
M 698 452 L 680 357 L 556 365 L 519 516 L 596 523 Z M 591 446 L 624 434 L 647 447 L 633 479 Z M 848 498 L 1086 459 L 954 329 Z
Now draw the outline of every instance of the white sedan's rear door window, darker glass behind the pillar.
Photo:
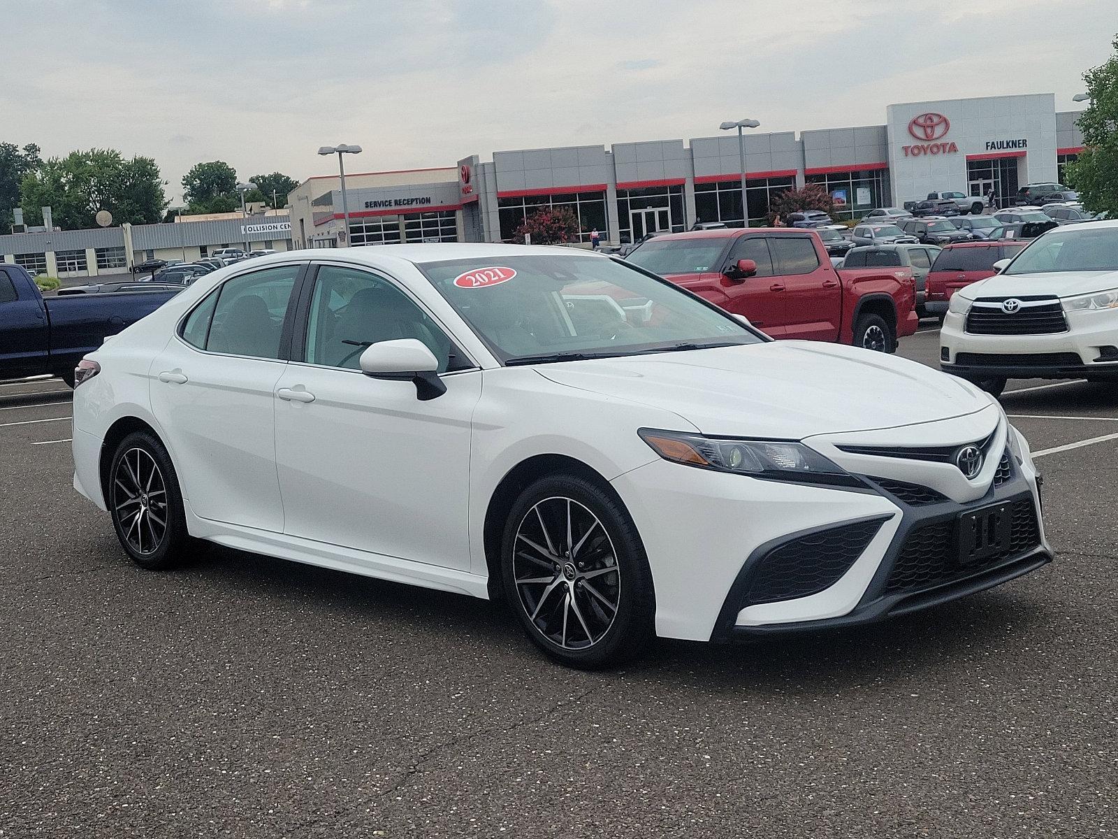
M 231 356 L 280 358 L 283 323 L 301 267 L 281 265 L 235 276 L 224 283 L 214 308 L 206 349 Z

